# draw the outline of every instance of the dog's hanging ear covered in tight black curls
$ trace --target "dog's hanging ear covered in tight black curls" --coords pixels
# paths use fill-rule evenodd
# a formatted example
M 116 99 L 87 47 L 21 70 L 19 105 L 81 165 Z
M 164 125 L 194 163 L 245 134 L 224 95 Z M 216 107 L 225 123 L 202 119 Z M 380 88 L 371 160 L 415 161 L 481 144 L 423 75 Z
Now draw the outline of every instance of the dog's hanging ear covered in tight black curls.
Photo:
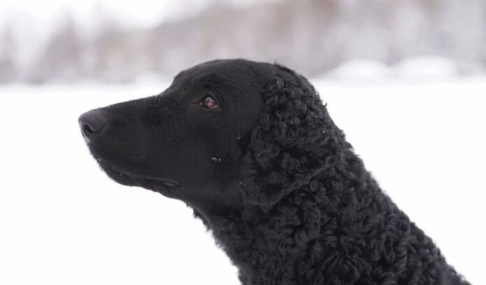
M 339 160 L 344 134 L 307 79 L 279 71 L 263 89 L 263 111 L 243 159 L 245 203 L 272 206 Z

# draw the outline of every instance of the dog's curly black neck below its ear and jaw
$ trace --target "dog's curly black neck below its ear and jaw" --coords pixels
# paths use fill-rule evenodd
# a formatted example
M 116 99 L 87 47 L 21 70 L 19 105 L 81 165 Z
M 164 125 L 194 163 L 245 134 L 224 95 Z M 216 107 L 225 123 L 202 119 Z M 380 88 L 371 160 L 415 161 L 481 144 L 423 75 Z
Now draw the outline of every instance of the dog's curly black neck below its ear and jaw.
M 439 284 L 420 271 L 427 266 L 416 265 L 448 266 L 355 155 L 346 169 L 327 169 L 268 210 L 245 206 L 242 213 L 202 219 L 240 269 L 243 284 L 313 284 L 307 282 L 318 277 L 326 278 L 319 284 L 377 278 L 408 284 L 419 276 L 416 284 Z M 453 270 L 450 276 L 457 279 Z

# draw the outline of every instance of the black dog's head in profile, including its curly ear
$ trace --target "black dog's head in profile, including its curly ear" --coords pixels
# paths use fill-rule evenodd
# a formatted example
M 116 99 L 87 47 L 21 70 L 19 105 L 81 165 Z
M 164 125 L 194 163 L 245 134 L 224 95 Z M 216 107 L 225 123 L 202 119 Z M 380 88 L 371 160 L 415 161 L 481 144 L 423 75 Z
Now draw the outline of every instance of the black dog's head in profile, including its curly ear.
M 215 212 L 271 206 L 341 144 L 307 79 L 242 59 L 189 68 L 160 95 L 88 111 L 79 123 L 113 180 Z

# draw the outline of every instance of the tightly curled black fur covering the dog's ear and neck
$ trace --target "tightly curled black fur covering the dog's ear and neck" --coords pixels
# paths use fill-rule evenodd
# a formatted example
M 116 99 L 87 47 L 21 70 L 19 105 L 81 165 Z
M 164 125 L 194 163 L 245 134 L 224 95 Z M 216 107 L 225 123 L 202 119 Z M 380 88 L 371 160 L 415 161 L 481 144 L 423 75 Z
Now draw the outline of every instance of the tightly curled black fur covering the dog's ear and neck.
M 227 183 L 209 196 L 238 194 L 225 210 L 179 199 L 212 229 L 242 284 L 469 284 L 383 193 L 307 79 L 279 65 L 218 62 L 205 70 L 256 74 L 263 102 L 237 134 L 242 152 L 229 161 L 239 170 L 217 176 Z

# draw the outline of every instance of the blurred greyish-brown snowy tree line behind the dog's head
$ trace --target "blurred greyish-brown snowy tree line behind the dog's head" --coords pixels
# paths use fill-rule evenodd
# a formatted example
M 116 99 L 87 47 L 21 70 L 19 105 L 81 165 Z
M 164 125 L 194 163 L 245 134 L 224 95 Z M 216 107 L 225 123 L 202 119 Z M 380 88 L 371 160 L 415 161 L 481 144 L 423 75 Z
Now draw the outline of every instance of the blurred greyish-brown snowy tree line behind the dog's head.
M 213 1 L 196 15 L 150 29 L 106 17 L 86 34 L 66 15 L 27 65 L 18 64 L 12 29 L 0 32 L 0 82 L 131 82 L 171 77 L 201 61 L 277 61 L 308 76 L 344 61 L 395 64 L 409 56 L 453 59 L 464 72 L 486 65 L 484 0 L 281 0 L 251 6 Z

